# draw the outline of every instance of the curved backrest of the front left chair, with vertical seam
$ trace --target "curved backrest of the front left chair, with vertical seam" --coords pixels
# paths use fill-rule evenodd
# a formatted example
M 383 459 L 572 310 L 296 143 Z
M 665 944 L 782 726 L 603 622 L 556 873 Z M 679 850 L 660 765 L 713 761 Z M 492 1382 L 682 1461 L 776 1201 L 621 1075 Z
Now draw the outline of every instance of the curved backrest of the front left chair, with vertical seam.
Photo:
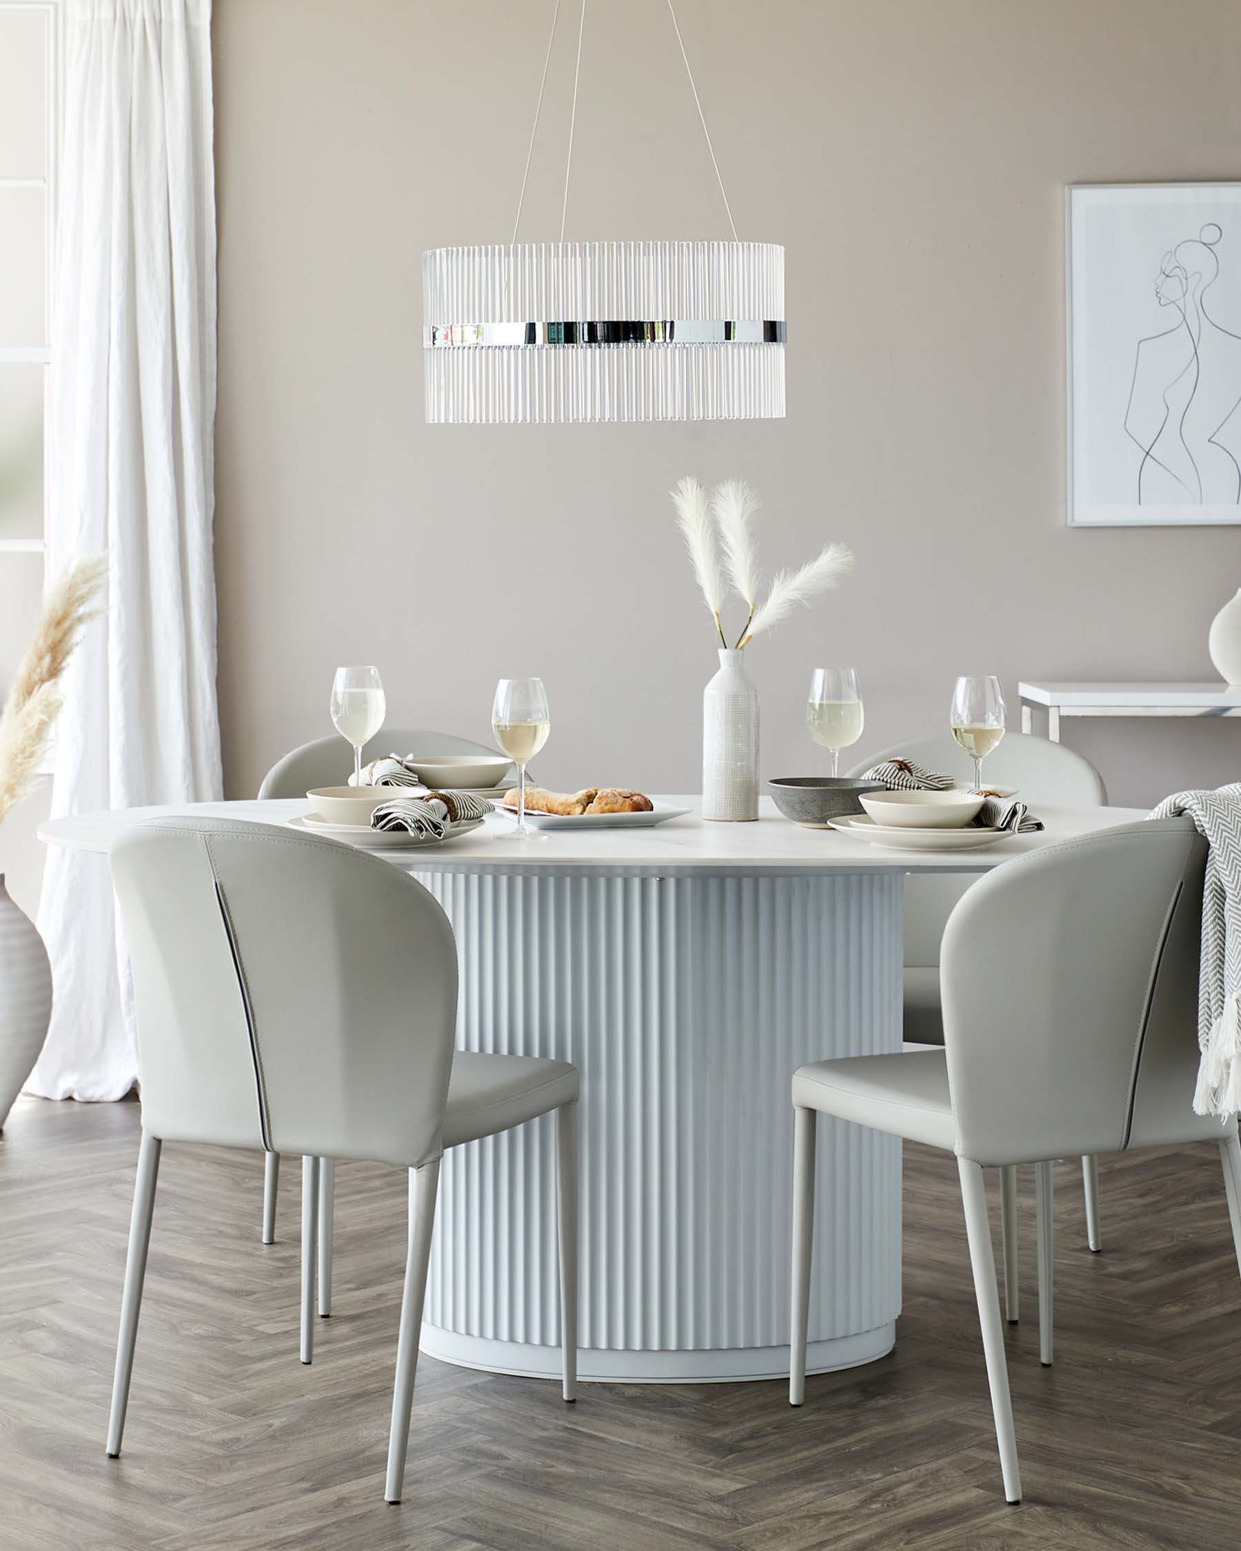
M 157 819 L 110 850 L 152 1135 L 417 1166 L 439 1155 L 453 929 L 377 856 Z

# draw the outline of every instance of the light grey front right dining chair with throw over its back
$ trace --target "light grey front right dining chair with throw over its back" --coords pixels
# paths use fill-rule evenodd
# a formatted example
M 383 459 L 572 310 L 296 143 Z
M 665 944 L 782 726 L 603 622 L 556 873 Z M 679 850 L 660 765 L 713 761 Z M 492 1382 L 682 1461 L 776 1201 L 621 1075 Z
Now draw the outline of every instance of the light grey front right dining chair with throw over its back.
M 942 1050 L 850 1056 L 793 1078 L 788 1397 L 805 1397 L 819 1114 L 957 1155 L 1004 1492 L 1021 1500 L 982 1169 L 1035 1163 L 1039 1354 L 1052 1362 L 1052 1162 L 1215 1140 L 1241 1267 L 1236 1118 L 1193 1112 L 1205 842 L 1188 819 L 1049 845 L 982 878 L 943 934 Z

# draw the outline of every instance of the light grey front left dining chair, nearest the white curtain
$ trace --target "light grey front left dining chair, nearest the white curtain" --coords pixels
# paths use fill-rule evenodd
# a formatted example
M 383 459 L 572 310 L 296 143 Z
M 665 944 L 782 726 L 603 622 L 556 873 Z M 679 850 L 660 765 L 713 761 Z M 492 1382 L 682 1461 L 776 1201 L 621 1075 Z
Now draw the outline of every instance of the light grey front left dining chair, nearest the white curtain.
M 320 1157 L 410 1169 L 388 1501 L 400 1501 L 439 1160 L 555 1111 L 563 1394 L 577 1385 L 577 1070 L 453 1052 L 456 945 L 434 898 L 377 856 L 287 828 L 160 819 L 112 847 L 138 1014 L 143 1138 L 107 1452 L 121 1452 L 160 1149 L 302 1154 L 302 1360 Z

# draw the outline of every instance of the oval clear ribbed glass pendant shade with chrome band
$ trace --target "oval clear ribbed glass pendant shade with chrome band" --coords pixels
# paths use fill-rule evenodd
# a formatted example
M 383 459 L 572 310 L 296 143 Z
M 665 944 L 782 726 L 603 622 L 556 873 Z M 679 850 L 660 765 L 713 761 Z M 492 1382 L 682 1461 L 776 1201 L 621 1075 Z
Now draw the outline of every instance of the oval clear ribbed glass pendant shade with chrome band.
M 785 413 L 785 250 L 520 242 L 422 254 L 427 420 Z

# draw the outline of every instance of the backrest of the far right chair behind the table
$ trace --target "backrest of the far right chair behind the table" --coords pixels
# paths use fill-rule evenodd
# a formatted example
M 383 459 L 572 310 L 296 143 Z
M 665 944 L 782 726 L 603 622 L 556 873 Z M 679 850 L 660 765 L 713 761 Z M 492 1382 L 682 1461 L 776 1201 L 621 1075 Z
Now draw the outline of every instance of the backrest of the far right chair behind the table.
M 974 779 L 974 765 L 951 732 L 931 738 L 906 738 L 890 749 L 880 749 L 845 774 L 861 776 L 873 765 L 890 758 L 917 760 L 929 771 L 943 771 L 960 780 Z M 987 755 L 983 779 L 996 786 L 1018 786 L 1021 796 L 1038 813 L 1039 803 L 1063 808 L 1098 808 L 1108 802 L 1103 777 L 1089 760 L 1061 743 L 1010 732 Z M 952 906 L 973 879 L 952 876 L 906 878 L 904 884 L 904 962 L 906 965 L 937 965 L 940 938 Z

